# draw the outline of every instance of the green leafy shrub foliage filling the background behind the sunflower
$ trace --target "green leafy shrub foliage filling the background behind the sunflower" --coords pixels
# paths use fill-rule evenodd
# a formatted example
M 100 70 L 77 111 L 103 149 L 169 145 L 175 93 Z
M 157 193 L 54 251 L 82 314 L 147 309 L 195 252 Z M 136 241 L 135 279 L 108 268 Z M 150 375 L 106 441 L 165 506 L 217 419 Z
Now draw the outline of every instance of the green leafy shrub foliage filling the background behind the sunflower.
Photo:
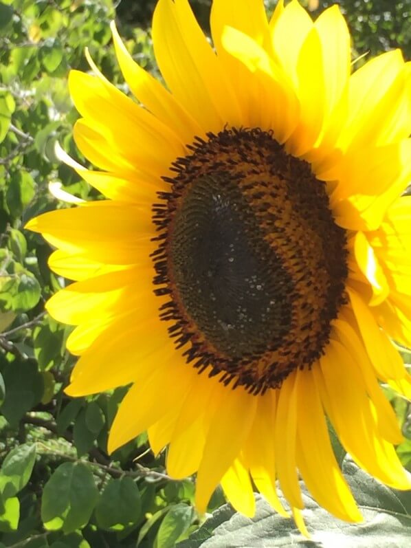
M 207 31 L 210 2 L 191 3 Z M 267 8 L 274 3 L 268 1 Z M 305 4 L 316 14 L 331 2 Z M 154 459 L 145 435 L 107 454 L 107 432 L 126 389 L 80 399 L 63 393 L 74 364 L 65 351 L 70 329 L 49 318 L 44 303 L 65 281 L 47 267 L 49 246 L 23 228 L 41 212 L 66 207 L 49 193 L 50 182 L 61 182 L 81 198 L 97 196 L 54 154 L 58 141 L 85 162 L 71 138 L 78 115 L 67 74 L 71 68 L 89 69 L 84 56 L 89 47 L 109 80 L 126 91 L 111 44 L 113 18 L 135 60 L 156 72 L 150 34 L 154 5 L 153 0 L 0 1 L 0 548 L 259 546 L 255 536 L 234 538 L 242 518 L 221 507 L 220 490 L 209 510 L 221 508 L 203 525 L 192 508 L 193 479 L 170 481 L 164 457 Z M 353 56 L 399 46 L 411 58 L 410 0 L 341 0 L 340 5 L 353 32 Z M 387 394 L 408 438 L 397 450 L 411 469 L 410 404 Z M 338 452 L 337 441 L 335 448 Z M 341 448 L 339 454 L 344 457 Z M 395 544 L 401 545 L 401 530 L 404 538 L 410 533 L 410 498 L 388 496 L 374 484 L 370 489 L 368 479 L 351 472 L 359 496 L 368 485 L 367 508 L 380 516 L 402 516 Z M 265 515 L 267 509 L 259 512 Z M 232 519 L 234 526 L 225 527 L 218 541 L 219 527 Z M 327 529 L 327 518 L 321 519 Z M 274 540 L 282 542 L 282 534 L 288 538 L 295 531 L 284 523 L 273 521 L 268 531 L 266 521 L 261 525 L 270 546 L 289 545 Z M 380 531 L 397 534 L 390 522 L 382 523 Z M 214 529 L 217 536 L 209 538 Z

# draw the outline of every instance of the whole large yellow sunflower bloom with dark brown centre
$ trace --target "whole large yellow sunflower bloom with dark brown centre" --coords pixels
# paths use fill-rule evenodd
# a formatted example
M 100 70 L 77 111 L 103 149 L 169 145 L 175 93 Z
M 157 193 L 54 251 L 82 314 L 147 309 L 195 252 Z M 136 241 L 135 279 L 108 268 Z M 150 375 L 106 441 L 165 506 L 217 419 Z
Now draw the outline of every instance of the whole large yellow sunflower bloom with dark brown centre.
M 399 50 L 351 74 L 337 6 L 316 21 L 293 0 L 214 0 L 214 47 L 187 0 L 159 0 L 166 86 L 129 56 L 136 100 L 91 58 L 71 71 L 82 118 L 65 161 L 107 197 L 28 223 L 75 281 L 47 303 L 77 326 L 67 394 L 133 383 L 109 451 L 148 430 L 168 474 L 197 472 L 205 512 L 221 483 L 254 514 L 304 531 L 299 474 L 338 518 L 361 520 L 327 421 L 379 481 L 411 487 L 379 382 L 410 397 L 392 340 L 411 346 L 411 68 Z

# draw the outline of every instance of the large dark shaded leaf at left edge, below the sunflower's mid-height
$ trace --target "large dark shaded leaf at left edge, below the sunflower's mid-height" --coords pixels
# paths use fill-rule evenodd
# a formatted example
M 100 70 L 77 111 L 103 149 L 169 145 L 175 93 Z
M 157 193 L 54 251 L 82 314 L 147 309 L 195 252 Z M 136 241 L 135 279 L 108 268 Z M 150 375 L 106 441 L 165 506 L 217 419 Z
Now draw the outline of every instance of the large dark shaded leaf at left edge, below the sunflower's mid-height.
M 43 396 L 43 377 L 34 360 L 14 361 L 3 370 L 5 399 L 1 413 L 12 428 Z

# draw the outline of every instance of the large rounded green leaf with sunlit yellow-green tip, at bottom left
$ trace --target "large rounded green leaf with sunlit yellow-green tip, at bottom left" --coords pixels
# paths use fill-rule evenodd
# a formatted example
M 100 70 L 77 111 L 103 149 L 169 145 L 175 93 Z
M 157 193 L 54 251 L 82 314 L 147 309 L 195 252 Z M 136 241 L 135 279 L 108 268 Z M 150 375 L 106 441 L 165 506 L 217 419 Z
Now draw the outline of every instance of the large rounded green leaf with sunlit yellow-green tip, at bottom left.
M 81 529 L 89 522 L 98 498 L 93 474 L 83 463 L 61 464 L 45 484 L 41 518 L 50 531 L 65 533 Z

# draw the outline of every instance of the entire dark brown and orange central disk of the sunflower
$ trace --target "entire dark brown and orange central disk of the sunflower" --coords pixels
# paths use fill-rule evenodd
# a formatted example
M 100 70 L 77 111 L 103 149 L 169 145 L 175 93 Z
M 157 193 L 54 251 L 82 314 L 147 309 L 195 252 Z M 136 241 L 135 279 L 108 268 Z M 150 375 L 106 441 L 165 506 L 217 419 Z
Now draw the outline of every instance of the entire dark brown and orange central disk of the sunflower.
M 160 315 L 200 371 L 264 392 L 322 355 L 344 303 L 346 234 L 309 164 L 270 133 L 188 148 L 153 206 Z

